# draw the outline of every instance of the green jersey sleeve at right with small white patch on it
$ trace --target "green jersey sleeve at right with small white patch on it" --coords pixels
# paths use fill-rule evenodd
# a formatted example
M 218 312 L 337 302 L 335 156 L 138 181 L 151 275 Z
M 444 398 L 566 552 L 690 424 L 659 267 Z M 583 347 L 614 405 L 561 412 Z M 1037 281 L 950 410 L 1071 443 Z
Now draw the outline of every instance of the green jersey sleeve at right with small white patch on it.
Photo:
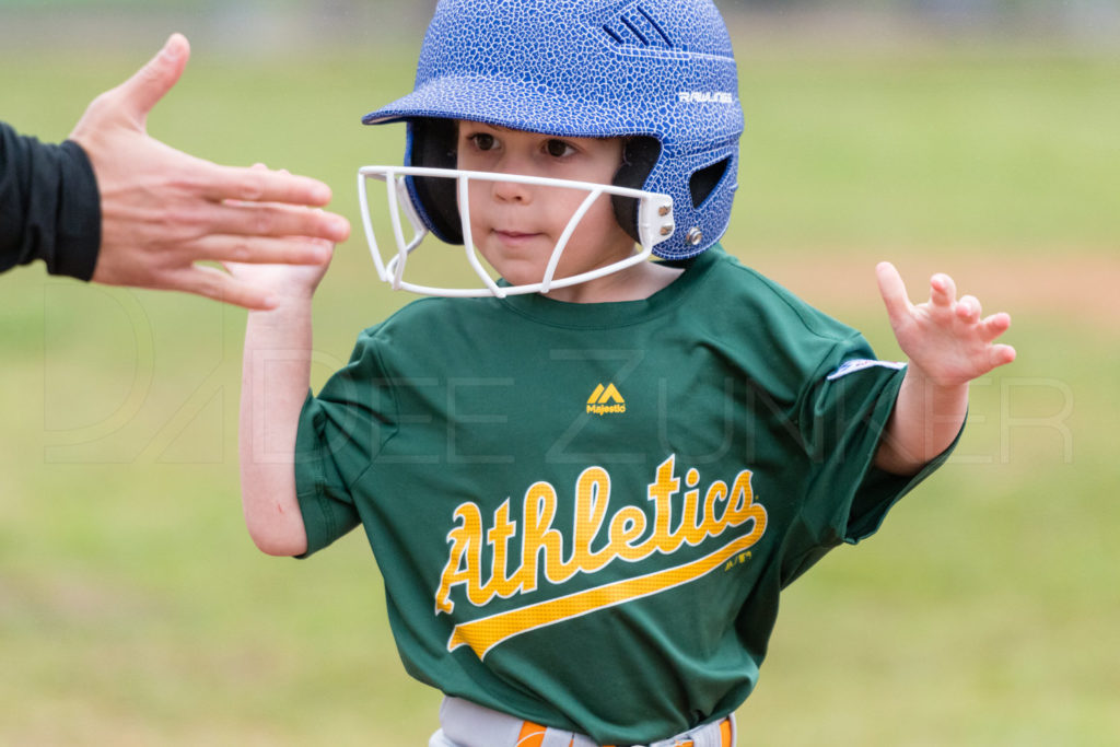
M 786 583 L 832 548 L 874 534 L 890 507 L 955 447 L 954 441 L 916 475 L 875 466 L 904 375 L 903 364 L 876 360 L 857 334 L 833 346 L 809 382 L 800 421 L 812 478 L 799 522 L 803 550 L 791 558 Z

